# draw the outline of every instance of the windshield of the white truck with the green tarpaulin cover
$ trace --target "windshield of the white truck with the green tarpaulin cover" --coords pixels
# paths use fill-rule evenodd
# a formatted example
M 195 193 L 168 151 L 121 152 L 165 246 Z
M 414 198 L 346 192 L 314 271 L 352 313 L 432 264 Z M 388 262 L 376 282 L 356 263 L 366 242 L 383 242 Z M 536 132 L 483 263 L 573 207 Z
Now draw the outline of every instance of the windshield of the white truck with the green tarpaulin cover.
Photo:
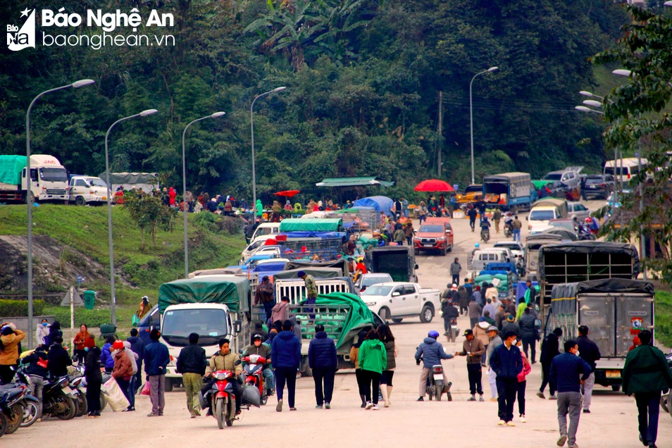
M 200 335 L 199 345 L 213 345 L 228 333 L 226 313 L 213 308 L 166 311 L 161 333 L 171 345 L 187 345 L 190 333 Z

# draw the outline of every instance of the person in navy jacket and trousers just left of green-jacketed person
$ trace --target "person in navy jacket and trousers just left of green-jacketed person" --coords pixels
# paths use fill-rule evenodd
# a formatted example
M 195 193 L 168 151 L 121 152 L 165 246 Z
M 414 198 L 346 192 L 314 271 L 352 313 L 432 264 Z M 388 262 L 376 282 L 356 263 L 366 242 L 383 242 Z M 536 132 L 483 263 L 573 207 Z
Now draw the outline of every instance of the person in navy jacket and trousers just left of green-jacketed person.
M 313 370 L 315 381 L 315 399 L 317 409 L 331 409 L 331 398 L 334 392 L 334 376 L 337 367 L 336 344 L 327 337 L 324 325 L 315 325 L 315 337 L 308 347 L 308 365 Z M 324 380 L 324 393 L 322 382 Z

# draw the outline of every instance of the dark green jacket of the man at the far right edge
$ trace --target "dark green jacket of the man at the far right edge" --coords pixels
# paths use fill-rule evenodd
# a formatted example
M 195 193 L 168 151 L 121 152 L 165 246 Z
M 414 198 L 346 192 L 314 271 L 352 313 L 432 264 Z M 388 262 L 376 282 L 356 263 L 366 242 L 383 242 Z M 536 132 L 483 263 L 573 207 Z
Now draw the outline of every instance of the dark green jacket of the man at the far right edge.
M 672 388 L 672 373 L 665 355 L 656 347 L 640 345 L 628 353 L 623 366 L 623 392 L 665 392 Z

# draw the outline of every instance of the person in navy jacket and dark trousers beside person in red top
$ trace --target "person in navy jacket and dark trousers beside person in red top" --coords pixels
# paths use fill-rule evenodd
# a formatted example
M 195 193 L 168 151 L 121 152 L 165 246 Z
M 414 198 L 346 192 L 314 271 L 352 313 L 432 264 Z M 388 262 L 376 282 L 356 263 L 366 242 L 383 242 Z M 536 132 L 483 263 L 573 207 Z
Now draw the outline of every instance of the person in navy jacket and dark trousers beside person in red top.
M 516 332 L 504 333 L 504 344 L 499 345 L 490 355 L 490 368 L 497 375 L 497 426 L 516 426 L 514 423 L 514 403 L 518 390 L 518 373 L 523 371 L 523 356 L 516 347 Z

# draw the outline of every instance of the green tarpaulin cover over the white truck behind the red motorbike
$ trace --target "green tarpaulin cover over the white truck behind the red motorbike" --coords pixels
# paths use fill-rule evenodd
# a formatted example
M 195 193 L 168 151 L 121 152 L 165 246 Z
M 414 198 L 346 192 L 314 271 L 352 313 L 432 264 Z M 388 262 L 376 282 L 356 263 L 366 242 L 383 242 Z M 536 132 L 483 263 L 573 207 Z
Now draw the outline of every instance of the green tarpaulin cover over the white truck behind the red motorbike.
M 158 311 L 170 305 L 224 304 L 233 313 L 249 311 L 249 281 L 237 275 L 208 275 L 163 283 L 158 288 Z

